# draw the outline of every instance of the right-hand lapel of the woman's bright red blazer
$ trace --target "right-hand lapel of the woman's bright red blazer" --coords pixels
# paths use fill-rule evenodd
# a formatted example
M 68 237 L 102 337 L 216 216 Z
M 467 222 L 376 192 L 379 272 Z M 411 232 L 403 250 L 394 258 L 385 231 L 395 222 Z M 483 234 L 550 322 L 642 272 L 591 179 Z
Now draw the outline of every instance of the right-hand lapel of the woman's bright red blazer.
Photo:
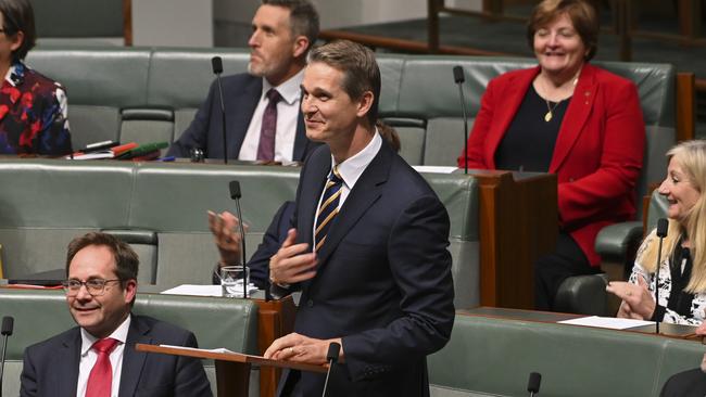
M 573 97 L 566 110 L 566 115 L 562 121 L 562 128 L 556 137 L 556 145 L 550 164 L 550 172 L 555 174 L 564 159 L 571 152 L 571 148 L 578 141 L 585 121 L 589 119 L 595 95 L 597 84 L 595 81 L 595 69 L 593 66 L 585 64 L 581 71 L 579 82 L 573 89 Z

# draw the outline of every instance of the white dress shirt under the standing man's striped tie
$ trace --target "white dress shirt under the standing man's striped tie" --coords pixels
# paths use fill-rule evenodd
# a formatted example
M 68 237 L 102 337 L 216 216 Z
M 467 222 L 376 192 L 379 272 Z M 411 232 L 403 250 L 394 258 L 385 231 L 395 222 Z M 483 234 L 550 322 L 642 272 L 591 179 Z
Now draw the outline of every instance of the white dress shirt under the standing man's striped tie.
M 375 156 L 378 154 L 381 146 L 382 146 L 382 137 L 380 137 L 380 133 L 378 133 L 378 130 L 376 128 L 373 139 L 370 140 L 370 142 L 368 142 L 368 144 L 365 148 L 363 148 L 362 151 L 357 152 L 355 155 L 353 155 L 350 158 L 346 158 L 343 163 L 338 165 L 338 172 L 341 176 L 341 179 L 343 179 L 343 184 L 341 185 L 341 196 L 338 200 L 339 209 L 343 205 L 343 202 L 345 202 L 345 198 L 348 198 L 348 195 L 351 192 L 351 190 L 353 190 L 355 182 L 357 182 L 363 171 L 365 171 L 365 168 L 367 168 L 370 162 L 373 162 L 373 158 L 375 158 Z M 330 177 L 331 172 L 333 172 L 335 166 L 336 166 L 336 161 L 333 159 L 333 155 L 331 155 L 331 170 L 328 172 L 328 177 Z M 322 205 L 323 198 L 324 198 L 324 191 L 322 191 L 322 195 L 318 197 L 318 204 L 316 205 L 316 208 L 318 208 Z M 318 209 L 316 210 L 316 213 L 317 214 L 314 215 L 314 229 L 312 230 L 312 235 L 314 236 L 314 240 L 316 240 L 316 218 L 318 215 Z M 314 244 L 312 246 L 313 247 L 316 246 L 316 241 L 314 241 Z

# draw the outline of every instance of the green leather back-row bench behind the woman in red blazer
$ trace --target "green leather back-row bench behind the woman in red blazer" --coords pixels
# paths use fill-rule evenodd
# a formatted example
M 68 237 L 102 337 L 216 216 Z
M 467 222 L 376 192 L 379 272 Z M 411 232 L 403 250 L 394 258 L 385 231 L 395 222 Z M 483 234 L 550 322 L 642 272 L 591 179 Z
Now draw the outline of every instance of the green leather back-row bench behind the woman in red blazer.
M 138 143 L 178 139 L 206 97 L 215 55 L 223 57 L 224 75 L 247 72 L 248 49 L 47 47 L 31 51 L 27 62 L 67 88 L 75 146 L 80 148 L 104 139 Z M 535 61 L 378 54 L 378 63 L 380 116 L 400 132 L 403 157 L 413 165 L 455 165 L 464 135 L 453 66 L 465 69 L 464 93 L 472 125 L 488 81 L 512 69 L 531 67 Z M 673 67 L 596 64 L 635 82 L 647 133 L 673 142 Z M 646 153 L 658 158 L 663 146 L 648 144 Z M 652 169 L 642 184 L 654 180 Z

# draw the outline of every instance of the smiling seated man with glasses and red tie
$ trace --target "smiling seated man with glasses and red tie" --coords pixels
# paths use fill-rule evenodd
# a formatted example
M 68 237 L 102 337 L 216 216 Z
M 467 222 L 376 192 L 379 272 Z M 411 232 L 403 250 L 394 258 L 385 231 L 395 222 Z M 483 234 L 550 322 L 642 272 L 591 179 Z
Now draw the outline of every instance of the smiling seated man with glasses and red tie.
M 64 290 L 79 326 L 27 347 L 21 396 L 211 396 L 198 359 L 135 350 L 135 344 L 197 347 L 186 330 L 130 315 L 139 259 L 126 243 L 88 233 L 68 244 Z

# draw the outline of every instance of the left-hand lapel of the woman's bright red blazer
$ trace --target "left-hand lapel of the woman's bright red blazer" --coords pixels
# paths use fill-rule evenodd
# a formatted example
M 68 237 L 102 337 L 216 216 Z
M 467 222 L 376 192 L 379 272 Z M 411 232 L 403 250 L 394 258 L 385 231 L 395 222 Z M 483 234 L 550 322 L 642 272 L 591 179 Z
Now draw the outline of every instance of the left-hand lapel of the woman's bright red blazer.
M 514 78 L 505 86 L 500 92 L 501 100 L 496 101 L 493 115 L 493 129 L 492 133 L 488 135 L 488 144 L 486 145 L 486 158 L 490 159 L 491 169 L 495 168 L 495 152 L 500 142 L 505 137 L 509 124 L 515 118 L 519 105 L 522 103 L 529 86 L 532 84 L 534 77 L 539 74 L 539 66 L 521 71 L 521 73 L 514 76 Z M 502 105 L 497 105 L 502 103 Z

